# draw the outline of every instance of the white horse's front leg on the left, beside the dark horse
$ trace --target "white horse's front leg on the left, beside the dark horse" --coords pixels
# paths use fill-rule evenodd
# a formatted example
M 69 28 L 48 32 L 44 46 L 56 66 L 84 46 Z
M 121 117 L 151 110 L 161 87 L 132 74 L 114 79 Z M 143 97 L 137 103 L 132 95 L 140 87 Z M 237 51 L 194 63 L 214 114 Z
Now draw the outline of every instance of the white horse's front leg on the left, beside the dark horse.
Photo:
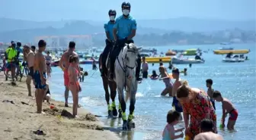
M 127 130 L 127 119 L 126 119 L 126 102 L 124 101 L 124 95 L 123 95 L 123 85 L 122 83 L 119 83 L 117 86 L 118 90 L 118 99 L 121 104 L 122 109 L 122 119 L 123 119 L 123 130 Z

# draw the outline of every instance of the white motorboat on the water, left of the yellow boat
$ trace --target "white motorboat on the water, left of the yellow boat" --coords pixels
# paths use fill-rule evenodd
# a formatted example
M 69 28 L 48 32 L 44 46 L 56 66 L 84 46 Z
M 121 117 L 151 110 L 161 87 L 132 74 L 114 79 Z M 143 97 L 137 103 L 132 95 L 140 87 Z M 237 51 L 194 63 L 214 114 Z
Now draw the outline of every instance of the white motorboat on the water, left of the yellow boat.
M 195 58 L 171 58 L 172 64 L 204 64 L 204 60 Z

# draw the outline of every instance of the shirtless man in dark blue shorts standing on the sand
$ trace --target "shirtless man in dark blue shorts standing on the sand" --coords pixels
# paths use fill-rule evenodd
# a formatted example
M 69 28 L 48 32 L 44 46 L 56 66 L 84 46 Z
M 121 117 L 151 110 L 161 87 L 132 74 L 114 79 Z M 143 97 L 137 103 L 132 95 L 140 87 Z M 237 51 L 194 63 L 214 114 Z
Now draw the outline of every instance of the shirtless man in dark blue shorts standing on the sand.
M 46 49 L 46 42 L 38 42 L 38 50 L 34 56 L 34 84 L 36 88 L 37 113 L 42 112 L 44 90 L 46 88 L 46 60 L 42 52 Z

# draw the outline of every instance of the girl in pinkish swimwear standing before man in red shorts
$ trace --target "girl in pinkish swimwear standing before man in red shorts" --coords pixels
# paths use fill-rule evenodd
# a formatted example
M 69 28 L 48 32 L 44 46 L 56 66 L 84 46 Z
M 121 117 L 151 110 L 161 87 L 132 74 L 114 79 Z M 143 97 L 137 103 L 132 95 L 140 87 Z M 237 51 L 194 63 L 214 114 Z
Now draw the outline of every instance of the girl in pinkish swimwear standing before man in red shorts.
M 78 70 L 76 69 L 79 61 L 77 56 L 69 56 L 69 90 L 73 97 L 73 116 L 77 117 L 78 92 L 81 92 L 81 86 L 78 82 Z

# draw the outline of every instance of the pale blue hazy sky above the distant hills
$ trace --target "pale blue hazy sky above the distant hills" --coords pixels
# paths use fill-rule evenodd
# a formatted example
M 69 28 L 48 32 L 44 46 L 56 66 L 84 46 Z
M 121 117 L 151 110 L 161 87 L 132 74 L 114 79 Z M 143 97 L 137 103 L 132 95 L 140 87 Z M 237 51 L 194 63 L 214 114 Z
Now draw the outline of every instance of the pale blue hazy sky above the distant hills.
M 0 0 L 0 17 L 34 20 L 107 20 L 110 9 L 121 14 L 123 0 Z M 256 0 L 130 0 L 138 20 L 192 17 L 256 20 Z

